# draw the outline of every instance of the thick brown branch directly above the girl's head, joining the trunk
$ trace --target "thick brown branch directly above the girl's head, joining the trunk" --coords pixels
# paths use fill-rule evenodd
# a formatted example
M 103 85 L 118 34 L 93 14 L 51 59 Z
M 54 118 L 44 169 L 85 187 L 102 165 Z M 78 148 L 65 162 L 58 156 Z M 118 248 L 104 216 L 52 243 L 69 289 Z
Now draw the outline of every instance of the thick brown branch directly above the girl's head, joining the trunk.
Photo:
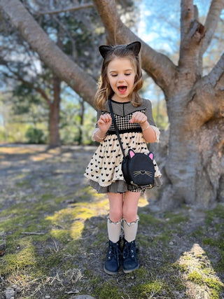
M 141 41 L 142 66 L 146 73 L 153 78 L 162 90 L 167 91 L 176 74 L 176 66 L 166 55 L 158 53 L 139 39 L 124 23 L 120 20 L 116 8 L 116 1 L 93 0 L 100 18 L 108 34 L 109 43 L 131 43 Z

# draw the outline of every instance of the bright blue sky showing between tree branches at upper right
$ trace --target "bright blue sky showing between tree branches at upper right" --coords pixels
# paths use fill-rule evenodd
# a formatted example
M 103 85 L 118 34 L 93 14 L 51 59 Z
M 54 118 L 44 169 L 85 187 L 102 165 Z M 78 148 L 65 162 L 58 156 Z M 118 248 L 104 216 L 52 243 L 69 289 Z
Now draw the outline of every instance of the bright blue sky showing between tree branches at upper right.
M 194 4 L 198 8 L 200 22 L 204 24 L 211 1 L 195 0 Z M 179 53 L 181 0 L 140 0 L 137 10 L 139 24 L 135 33 L 149 46 L 177 63 L 178 55 L 174 58 L 174 53 Z M 224 10 L 221 18 L 224 20 Z M 220 54 L 222 52 L 223 49 Z M 153 104 L 163 99 L 162 91 L 155 87 L 151 78 L 146 81 L 149 86 L 144 97 L 151 99 Z

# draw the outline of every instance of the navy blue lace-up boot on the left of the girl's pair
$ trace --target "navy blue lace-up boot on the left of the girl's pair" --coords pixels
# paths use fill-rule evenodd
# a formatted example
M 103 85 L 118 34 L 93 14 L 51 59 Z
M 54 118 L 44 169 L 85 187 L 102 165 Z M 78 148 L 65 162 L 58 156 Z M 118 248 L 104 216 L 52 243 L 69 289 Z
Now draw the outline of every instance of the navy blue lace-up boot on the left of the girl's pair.
M 113 243 L 109 240 L 108 251 L 106 254 L 106 262 L 104 263 L 104 271 L 107 274 L 117 274 L 119 270 L 120 241 Z

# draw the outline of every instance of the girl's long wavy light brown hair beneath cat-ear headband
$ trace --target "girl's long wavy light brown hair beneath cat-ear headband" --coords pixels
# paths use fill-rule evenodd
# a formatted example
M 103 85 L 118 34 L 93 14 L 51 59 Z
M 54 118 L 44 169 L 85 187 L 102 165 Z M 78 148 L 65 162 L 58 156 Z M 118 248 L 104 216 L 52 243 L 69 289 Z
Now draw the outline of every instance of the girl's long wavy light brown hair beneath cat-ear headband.
M 140 44 L 139 42 L 134 42 Z M 132 43 L 132 44 L 134 44 Z M 130 45 L 132 45 L 130 44 Z M 114 92 L 109 83 L 109 79 L 107 77 L 107 69 L 109 63 L 115 58 L 126 58 L 129 59 L 132 63 L 132 67 L 134 68 L 135 78 L 134 78 L 134 86 L 132 90 L 132 104 L 133 106 L 141 106 L 141 98 L 139 97 L 139 90 L 143 85 L 143 78 L 141 72 L 141 60 L 139 57 L 139 50 L 134 51 L 130 47 L 130 45 L 117 45 L 117 46 L 101 46 L 106 48 L 106 53 L 102 53 L 102 50 L 99 48 L 100 53 L 104 57 L 104 61 L 102 63 L 101 76 L 99 78 L 98 90 L 94 97 L 95 105 L 97 109 L 105 110 L 105 103 L 108 99 L 110 99 Z

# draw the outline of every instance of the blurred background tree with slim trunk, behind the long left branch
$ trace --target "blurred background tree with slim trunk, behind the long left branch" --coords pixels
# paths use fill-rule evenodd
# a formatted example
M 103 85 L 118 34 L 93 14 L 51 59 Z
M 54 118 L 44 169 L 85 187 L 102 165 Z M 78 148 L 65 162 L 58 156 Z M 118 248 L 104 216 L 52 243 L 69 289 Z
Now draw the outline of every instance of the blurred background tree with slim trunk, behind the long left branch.
M 47 4 L 43 0 L 22 2 L 27 10 L 32 13 L 38 25 L 48 33 L 50 39 L 55 41 L 57 46 L 71 60 L 77 60 L 79 66 L 97 81 L 98 74 L 93 70 L 97 69 L 100 58 L 95 50 L 95 43 L 101 43 L 101 40 L 105 39 L 105 34 L 100 29 L 102 24 L 99 24 L 99 16 L 95 10 L 91 9 L 93 4 L 80 5 L 76 1 L 76 6 L 71 6 L 73 1 L 66 1 L 64 7 L 59 1 L 50 1 Z M 123 10 L 123 6 L 128 7 L 130 11 L 133 10 L 132 3 L 127 4 L 127 2 L 125 0 L 120 1 L 120 11 Z M 126 22 L 129 22 L 129 19 Z M 60 144 L 61 81 L 59 77 L 52 75 L 52 72 L 45 64 L 39 61 L 38 55 L 30 50 L 25 40 L 21 39 L 18 32 L 15 32 L 10 22 L 4 20 L 3 23 L 2 27 L 5 30 L 1 32 L 3 46 L 0 53 L 1 64 L 3 64 L 6 71 L 1 73 L 1 78 L 6 81 L 6 78 L 9 79 L 8 74 L 10 74 L 10 83 L 12 83 L 13 78 L 14 81 L 21 82 L 20 91 L 24 87 L 26 90 L 33 90 L 32 92 L 41 95 L 49 109 L 49 144 L 50 146 L 58 146 Z M 10 86 L 12 87 L 12 84 Z M 15 92 L 13 92 L 13 95 L 15 95 Z M 31 98 L 27 97 L 27 99 Z M 77 96 L 76 98 L 78 99 Z M 25 99 L 22 102 L 25 102 Z M 18 107 L 20 102 L 17 101 L 16 104 Z M 30 104 L 34 104 L 34 102 L 31 101 Z M 44 106 L 46 106 L 45 104 Z M 81 102 L 80 106 L 82 106 Z M 23 109 L 19 108 L 17 112 L 23 113 L 24 108 L 24 106 Z M 29 109 L 29 105 L 26 106 L 26 109 Z M 83 114 L 84 112 L 83 110 Z M 80 134 L 81 130 L 79 130 Z

